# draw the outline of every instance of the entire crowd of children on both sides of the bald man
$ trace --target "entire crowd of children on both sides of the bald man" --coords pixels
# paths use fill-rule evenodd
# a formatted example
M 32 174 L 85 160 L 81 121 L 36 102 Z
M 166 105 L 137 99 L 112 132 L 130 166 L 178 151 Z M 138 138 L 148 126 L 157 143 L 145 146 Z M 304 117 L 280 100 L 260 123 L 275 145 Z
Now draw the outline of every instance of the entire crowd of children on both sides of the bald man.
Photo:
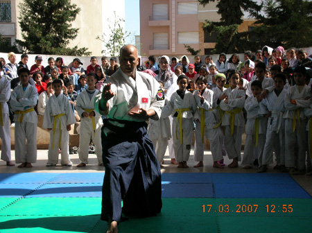
M 279 47 L 276 49 L 277 58 L 268 46 L 255 55 L 247 51 L 244 54 L 245 62 L 241 62 L 237 54 L 227 60 L 224 53 L 220 54 L 216 63 L 210 55 L 206 57 L 205 64 L 200 62 L 198 55 L 194 58 L 194 64 L 189 63 L 186 55 L 180 60 L 171 59 L 171 70 L 178 76 L 177 91 L 166 96 L 166 105 L 159 122 L 167 122 L 172 117 L 172 129 L 162 127 L 164 132 L 156 135 L 160 141 L 164 141 L 164 148 L 172 137 L 178 168 L 188 167 L 195 128 L 196 167 L 203 166 L 206 138 L 210 142 L 213 166 L 216 168 L 224 168 L 223 156 L 228 155 L 232 159 L 229 168 L 237 167 L 242 161 L 243 169 L 251 169 L 257 161 L 259 172 L 265 172 L 268 164 L 273 162 L 274 153 L 276 169 L 292 174 L 302 174 L 311 169 L 311 160 L 306 159 L 306 153 L 311 153 L 311 133 L 308 137 L 308 132 L 311 132 L 312 94 L 305 68 L 311 65 L 311 59 L 307 58 L 304 51 L 291 48 L 287 51 L 288 60 L 283 50 Z M 296 53 L 299 59 L 294 55 Z M 24 58 L 21 62 L 25 62 L 26 56 L 22 56 Z M 151 67 L 157 67 L 153 56 L 149 59 Z M 11 59 L 10 63 L 14 64 L 15 60 Z M 49 66 L 44 71 L 40 67 L 40 60 L 41 56 L 36 56 L 34 66 L 37 68 L 33 66 L 31 71 L 24 67 L 26 64 L 17 67 L 17 76 L 14 75 L 15 69 L 11 69 L 10 73 L 6 73 L 6 70 L 2 73 L 19 78 L 21 84 L 15 85 L 10 101 L 15 112 L 15 150 L 16 162 L 21 163 L 19 167 L 31 167 L 37 157 L 35 110 L 44 116 L 43 127 L 51 130 L 46 166 L 58 164 L 59 149 L 62 151 L 61 164 L 71 166 L 68 130 L 76 122 L 75 111 L 81 117 L 78 167 L 88 163 L 90 139 L 96 147 L 98 165 L 103 165 L 100 132 L 103 121 L 94 111 L 94 96 L 98 94 L 108 74 L 112 74 L 112 70 L 116 71 L 116 58 L 111 58 L 111 67 L 114 68 L 110 69 L 107 58 L 103 58 L 100 67 L 96 64 L 96 58 L 92 57 L 87 76 L 78 58 L 73 60 L 71 74 L 67 66 L 58 66 L 62 62 L 59 58 L 56 59 L 56 68 L 53 58 L 49 58 Z M 276 60 L 277 64 L 272 60 Z M 48 74 L 49 78 L 44 78 L 44 74 Z M 10 135 L 7 134 L 10 129 L 6 128 L 10 123 L 5 123 L 8 121 L 9 107 L 3 104 L 10 99 L 10 89 L 7 91 L 6 88 L 10 88 L 9 79 L 0 78 L 0 102 L 3 106 L 3 117 L 0 119 L 3 145 L 1 159 L 12 166 L 8 144 Z M 42 96 L 39 101 L 37 94 Z M 244 130 L 245 148 L 241 158 Z M 149 133 L 152 134 L 153 129 L 149 129 Z M 161 150 L 157 153 L 159 163 L 163 162 L 164 148 L 158 147 Z M 295 150 L 299 153 L 295 153 Z

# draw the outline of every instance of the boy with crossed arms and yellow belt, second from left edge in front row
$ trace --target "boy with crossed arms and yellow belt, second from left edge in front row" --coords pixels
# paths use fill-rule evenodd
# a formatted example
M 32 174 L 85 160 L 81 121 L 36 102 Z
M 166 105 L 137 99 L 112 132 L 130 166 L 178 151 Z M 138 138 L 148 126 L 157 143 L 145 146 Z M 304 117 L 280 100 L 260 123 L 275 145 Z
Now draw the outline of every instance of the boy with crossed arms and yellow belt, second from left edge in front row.
M 21 85 L 15 87 L 11 95 L 11 107 L 15 112 L 15 161 L 19 168 L 31 168 L 37 162 L 37 89 L 28 83 L 30 72 L 19 69 Z M 27 140 L 27 146 L 26 146 Z

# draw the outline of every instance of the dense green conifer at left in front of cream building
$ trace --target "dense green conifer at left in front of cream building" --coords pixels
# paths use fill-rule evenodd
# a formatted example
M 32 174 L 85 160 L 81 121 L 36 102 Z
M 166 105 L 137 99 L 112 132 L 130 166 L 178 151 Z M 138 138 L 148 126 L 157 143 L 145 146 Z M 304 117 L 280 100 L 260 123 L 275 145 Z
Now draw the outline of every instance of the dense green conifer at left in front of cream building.
M 19 26 L 23 40 L 19 46 L 28 53 L 89 55 L 87 48 L 67 48 L 70 40 L 76 38 L 78 28 L 71 28 L 71 22 L 80 12 L 70 0 L 24 0 L 19 3 Z

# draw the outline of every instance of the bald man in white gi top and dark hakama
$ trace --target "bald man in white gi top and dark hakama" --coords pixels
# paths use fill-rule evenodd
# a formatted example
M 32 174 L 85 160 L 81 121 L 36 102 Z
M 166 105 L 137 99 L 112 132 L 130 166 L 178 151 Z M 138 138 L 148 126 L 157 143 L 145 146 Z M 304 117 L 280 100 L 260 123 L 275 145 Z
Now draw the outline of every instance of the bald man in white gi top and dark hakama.
M 164 100 L 157 97 L 159 83 L 137 71 L 137 49 L 125 45 L 118 69 L 96 98 L 96 110 L 107 115 L 102 128 L 103 182 L 101 219 L 107 232 L 117 232 L 123 213 L 155 216 L 162 209 L 160 166 L 146 120 L 159 119 Z

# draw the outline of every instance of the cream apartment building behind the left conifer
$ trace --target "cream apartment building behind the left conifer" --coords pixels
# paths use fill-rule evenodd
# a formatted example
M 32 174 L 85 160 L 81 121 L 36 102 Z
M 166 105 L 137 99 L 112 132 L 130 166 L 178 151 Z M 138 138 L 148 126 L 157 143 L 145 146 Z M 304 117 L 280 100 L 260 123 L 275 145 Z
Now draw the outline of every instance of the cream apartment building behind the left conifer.
M 0 0 L 0 34 L 4 40 L 22 40 L 19 28 L 19 3 L 23 0 Z M 104 49 L 104 43 L 96 40 L 97 35 L 110 33 L 108 27 L 114 23 L 114 12 L 121 18 L 125 18 L 125 0 L 71 0 L 81 8 L 76 20 L 72 22 L 73 28 L 80 28 L 75 40 L 69 43 L 69 47 L 87 47 L 92 55 L 100 56 Z M 124 24 L 122 24 L 124 28 Z

